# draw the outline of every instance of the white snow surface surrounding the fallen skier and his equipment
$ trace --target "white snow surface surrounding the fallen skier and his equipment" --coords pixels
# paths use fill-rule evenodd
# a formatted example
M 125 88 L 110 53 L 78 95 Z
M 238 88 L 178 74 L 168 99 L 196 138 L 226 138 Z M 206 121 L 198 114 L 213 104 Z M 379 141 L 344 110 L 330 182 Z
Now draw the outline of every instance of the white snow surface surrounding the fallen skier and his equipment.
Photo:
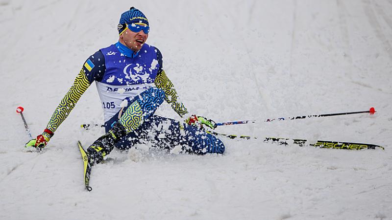
M 223 155 L 113 151 L 82 179 L 103 120 L 93 84 L 42 154 L 35 136 L 129 4 L 188 110 L 217 132 L 382 145 L 347 151 L 227 140 Z M 0 0 L 0 219 L 392 219 L 391 0 Z M 361 111 L 285 122 L 266 118 Z M 177 118 L 169 105 L 157 114 Z

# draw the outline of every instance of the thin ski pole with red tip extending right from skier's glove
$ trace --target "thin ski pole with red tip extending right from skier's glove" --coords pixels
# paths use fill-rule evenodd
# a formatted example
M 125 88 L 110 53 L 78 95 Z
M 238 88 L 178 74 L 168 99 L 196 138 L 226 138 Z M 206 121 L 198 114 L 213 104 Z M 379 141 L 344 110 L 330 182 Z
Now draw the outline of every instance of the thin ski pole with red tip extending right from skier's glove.
M 280 118 L 268 118 L 264 120 L 264 122 L 270 121 L 284 121 L 286 119 L 303 119 L 303 118 L 310 118 L 310 117 L 327 117 L 327 116 L 337 116 L 337 115 L 346 115 L 346 114 L 360 114 L 360 113 L 370 113 L 374 114 L 376 111 L 373 107 L 371 107 L 368 111 L 353 111 L 353 112 L 343 112 L 343 113 L 332 113 L 332 114 L 319 114 L 319 115 L 306 115 L 306 116 L 294 116 L 294 117 L 280 117 Z M 256 123 L 257 120 L 246 120 L 246 121 L 229 121 L 229 122 L 221 122 L 217 123 L 217 126 L 222 125 L 239 125 L 239 124 L 249 124 L 249 123 Z

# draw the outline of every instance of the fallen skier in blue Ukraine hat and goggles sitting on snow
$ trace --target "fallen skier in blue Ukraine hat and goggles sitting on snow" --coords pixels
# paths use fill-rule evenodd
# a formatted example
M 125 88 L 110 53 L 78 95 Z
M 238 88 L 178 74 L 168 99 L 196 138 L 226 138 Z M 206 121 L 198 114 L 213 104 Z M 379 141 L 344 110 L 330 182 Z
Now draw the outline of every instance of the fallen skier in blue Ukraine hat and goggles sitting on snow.
M 44 132 L 27 142 L 26 147 L 45 147 L 80 96 L 96 81 L 106 133 L 87 149 L 90 165 L 101 162 L 114 147 L 129 149 L 147 142 L 164 149 L 181 146 L 187 153 L 223 154 L 221 140 L 201 129 L 202 126 L 214 129 L 215 122 L 201 116 L 186 116 L 188 110 L 179 102 L 163 70 L 161 52 L 146 44 L 149 32 L 146 16 L 131 7 L 121 15 L 118 31 L 116 44 L 98 50 L 86 60 Z M 186 118 L 186 124 L 154 115 L 164 100 L 180 117 Z

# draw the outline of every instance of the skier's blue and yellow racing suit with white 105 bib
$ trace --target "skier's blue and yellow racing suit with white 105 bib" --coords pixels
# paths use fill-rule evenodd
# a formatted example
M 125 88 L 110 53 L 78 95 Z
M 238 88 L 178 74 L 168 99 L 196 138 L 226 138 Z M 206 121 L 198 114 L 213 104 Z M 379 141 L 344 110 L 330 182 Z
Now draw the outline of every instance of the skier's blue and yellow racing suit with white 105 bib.
M 154 46 L 144 44 L 131 51 L 120 42 L 102 48 L 84 63 L 73 87 L 65 95 L 49 120 L 47 129 L 54 132 L 68 116 L 84 91 L 95 81 L 108 132 L 119 120 L 130 124 L 126 136 L 116 144 L 128 149 L 136 143 L 172 149 L 181 146 L 185 152 L 206 154 L 224 152 L 224 145 L 212 134 L 179 121 L 154 115 L 167 101 L 181 117 L 188 113 L 178 100 L 172 82 L 163 70 L 162 54 Z M 137 106 L 133 104 L 138 103 Z M 140 112 L 133 115 L 132 112 Z M 138 118 L 139 117 L 139 118 Z

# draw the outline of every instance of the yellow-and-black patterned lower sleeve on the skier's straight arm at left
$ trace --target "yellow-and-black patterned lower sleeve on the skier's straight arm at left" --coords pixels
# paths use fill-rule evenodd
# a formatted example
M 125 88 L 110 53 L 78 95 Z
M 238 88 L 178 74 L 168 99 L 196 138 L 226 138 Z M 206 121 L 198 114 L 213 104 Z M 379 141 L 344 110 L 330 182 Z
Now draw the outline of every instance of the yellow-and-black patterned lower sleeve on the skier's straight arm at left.
M 73 107 L 75 107 L 76 102 L 79 100 L 80 96 L 89 88 L 91 83 L 87 80 L 86 72 L 82 68 L 79 74 L 76 76 L 72 87 L 65 94 L 64 98 L 61 100 L 60 104 L 54 110 L 52 116 L 49 119 L 47 129 L 55 132 L 60 124 L 67 118 Z

